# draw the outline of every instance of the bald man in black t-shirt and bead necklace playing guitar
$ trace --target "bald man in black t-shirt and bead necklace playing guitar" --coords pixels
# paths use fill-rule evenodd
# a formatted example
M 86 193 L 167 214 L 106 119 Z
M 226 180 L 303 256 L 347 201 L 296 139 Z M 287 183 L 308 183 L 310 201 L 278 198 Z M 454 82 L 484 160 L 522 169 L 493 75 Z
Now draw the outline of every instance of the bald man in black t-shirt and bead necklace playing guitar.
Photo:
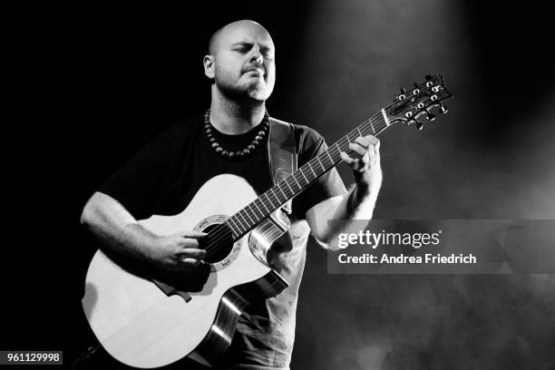
M 202 264 L 204 233 L 159 236 L 137 219 L 179 214 L 206 181 L 222 173 L 241 176 L 260 194 L 272 187 L 266 101 L 276 81 L 275 57 L 270 34 L 256 22 L 234 22 L 213 34 L 203 59 L 211 82 L 209 110 L 162 133 L 104 182 L 83 209 L 83 225 L 106 248 L 162 269 Z M 299 167 L 326 151 L 316 131 L 294 125 L 294 133 Z M 334 169 L 293 200 L 291 228 L 268 251 L 268 265 L 289 287 L 246 308 L 219 367 L 289 368 L 308 234 L 326 246 L 335 232 L 328 219 L 371 219 L 381 186 L 379 141 L 358 138 L 350 149 L 357 158 L 341 158 L 354 170 L 355 187 L 347 192 Z

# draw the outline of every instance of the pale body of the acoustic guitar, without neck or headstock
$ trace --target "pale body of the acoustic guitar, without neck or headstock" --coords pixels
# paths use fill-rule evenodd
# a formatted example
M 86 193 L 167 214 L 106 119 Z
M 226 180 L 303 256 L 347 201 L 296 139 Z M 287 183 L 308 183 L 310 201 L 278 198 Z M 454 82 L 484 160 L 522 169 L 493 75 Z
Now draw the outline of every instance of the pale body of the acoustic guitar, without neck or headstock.
M 140 223 L 161 236 L 202 231 L 256 198 L 246 180 L 219 175 L 207 181 L 179 215 L 152 216 Z M 251 298 L 247 292 L 273 297 L 287 287 L 265 258 L 265 248 L 285 230 L 277 219 L 265 219 L 233 243 L 225 258 L 210 263 L 200 290 L 170 294 L 151 277 L 122 267 L 99 249 L 88 269 L 83 297 L 95 336 L 126 365 L 159 367 L 186 355 L 213 364 L 231 342 L 239 315 Z

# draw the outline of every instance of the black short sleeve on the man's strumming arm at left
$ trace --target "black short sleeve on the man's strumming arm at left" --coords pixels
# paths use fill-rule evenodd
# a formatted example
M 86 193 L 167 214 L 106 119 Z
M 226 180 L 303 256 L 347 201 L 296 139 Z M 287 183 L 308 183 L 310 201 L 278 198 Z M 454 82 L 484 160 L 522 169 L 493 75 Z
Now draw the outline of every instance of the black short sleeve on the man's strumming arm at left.
M 112 174 L 98 191 L 122 203 L 135 219 L 149 218 L 160 204 L 162 184 L 167 183 L 172 163 L 170 134 L 162 133 Z

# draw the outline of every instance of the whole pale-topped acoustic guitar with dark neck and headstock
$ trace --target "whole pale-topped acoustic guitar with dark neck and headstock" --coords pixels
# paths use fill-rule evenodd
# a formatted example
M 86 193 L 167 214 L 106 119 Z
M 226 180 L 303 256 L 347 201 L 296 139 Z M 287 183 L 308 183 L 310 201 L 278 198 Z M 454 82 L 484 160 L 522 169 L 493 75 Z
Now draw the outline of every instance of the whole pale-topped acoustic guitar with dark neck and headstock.
M 447 112 L 442 102 L 450 97 L 442 76 L 428 75 L 265 193 L 222 174 L 207 181 L 179 215 L 139 221 L 161 236 L 187 229 L 208 233 L 202 246 L 205 268 L 170 276 L 97 250 L 87 271 L 83 309 L 101 345 L 135 367 L 169 365 L 184 356 L 214 364 L 229 347 L 248 303 L 287 287 L 266 260 L 268 248 L 288 227 L 277 210 L 336 166 L 339 153 L 349 152 L 356 137 L 378 135 L 394 122 L 421 129 L 420 116 L 433 120 L 433 107 Z

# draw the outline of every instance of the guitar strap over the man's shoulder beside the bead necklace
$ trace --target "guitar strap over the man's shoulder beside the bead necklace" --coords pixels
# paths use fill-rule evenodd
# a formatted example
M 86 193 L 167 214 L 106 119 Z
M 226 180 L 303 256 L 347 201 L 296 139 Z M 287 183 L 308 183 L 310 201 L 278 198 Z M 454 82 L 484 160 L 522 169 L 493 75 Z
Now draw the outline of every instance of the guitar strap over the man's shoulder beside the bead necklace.
M 297 145 L 293 124 L 275 118 L 269 119 L 268 162 L 274 185 L 297 170 Z M 281 209 L 290 215 L 291 200 Z

